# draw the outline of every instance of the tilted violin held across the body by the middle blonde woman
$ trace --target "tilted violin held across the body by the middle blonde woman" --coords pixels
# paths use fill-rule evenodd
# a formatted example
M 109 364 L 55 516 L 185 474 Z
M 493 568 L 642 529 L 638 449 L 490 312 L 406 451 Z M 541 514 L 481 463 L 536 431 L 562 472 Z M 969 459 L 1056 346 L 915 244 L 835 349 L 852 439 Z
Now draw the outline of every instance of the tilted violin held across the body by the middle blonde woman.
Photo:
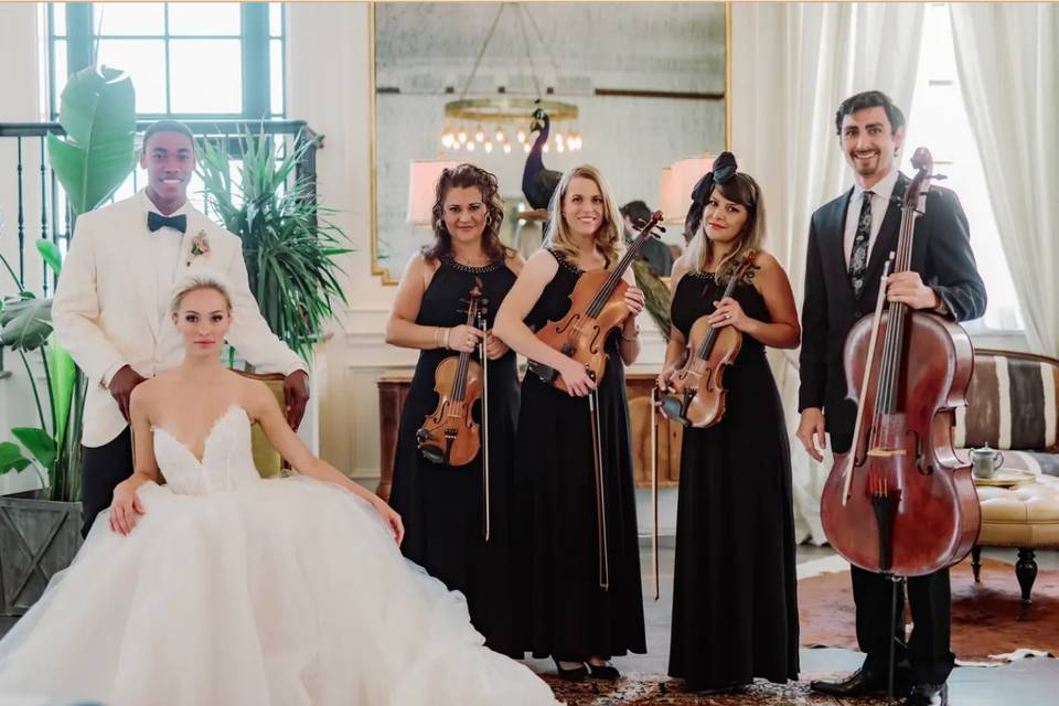
M 610 357 L 603 350 L 607 336 L 629 315 L 629 307 L 624 302 L 629 285 L 622 275 L 648 238 L 659 237 L 654 228 L 661 222 L 662 212 L 655 211 L 613 270 L 599 269 L 582 274 L 570 292 L 570 308 L 566 315 L 560 321 L 549 321 L 537 331 L 537 338 L 549 347 L 585 365 L 595 375 L 596 384 L 603 378 L 607 359 Z M 563 376 L 552 366 L 528 361 L 527 367 L 545 383 L 568 392 Z

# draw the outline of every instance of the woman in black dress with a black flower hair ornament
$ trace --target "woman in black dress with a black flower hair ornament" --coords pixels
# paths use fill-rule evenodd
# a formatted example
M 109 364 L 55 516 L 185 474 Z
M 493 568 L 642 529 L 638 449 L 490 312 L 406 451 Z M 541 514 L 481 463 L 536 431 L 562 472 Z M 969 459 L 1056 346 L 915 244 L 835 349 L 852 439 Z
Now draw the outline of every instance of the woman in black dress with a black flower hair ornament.
M 798 603 L 791 461 L 766 346 L 793 349 L 801 330 L 787 274 L 761 250 L 764 204 L 725 152 L 696 185 L 694 237 L 673 266 L 673 331 L 659 376 L 664 392 L 699 317 L 742 332 L 724 373 L 723 419 L 684 429 L 676 511 L 670 675 L 689 689 L 798 678 Z M 755 267 L 723 298 L 748 250 Z

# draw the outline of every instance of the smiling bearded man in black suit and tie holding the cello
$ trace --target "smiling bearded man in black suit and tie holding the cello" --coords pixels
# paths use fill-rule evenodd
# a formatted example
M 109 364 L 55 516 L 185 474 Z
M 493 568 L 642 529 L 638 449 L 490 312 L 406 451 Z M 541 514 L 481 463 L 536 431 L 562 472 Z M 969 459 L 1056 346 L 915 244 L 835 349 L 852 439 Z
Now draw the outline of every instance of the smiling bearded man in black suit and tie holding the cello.
M 900 197 L 909 184 L 894 158 L 905 138 L 905 116 L 882 93 L 847 98 L 835 116 L 838 142 L 853 168 L 853 189 L 821 206 L 809 231 L 805 302 L 802 309 L 801 421 L 798 438 L 810 456 L 823 460 L 819 447 L 831 435 L 832 450 L 853 442 L 856 405 L 846 398 L 843 347 L 846 334 L 869 314 L 879 291 L 887 256 L 897 247 Z M 956 321 L 985 312 L 985 286 L 971 250 L 967 218 L 956 195 L 933 186 L 926 214 L 916 226 L 911 269 L 890 275 L 887 300 L 933 311 Z M 954 655 L 949 649 L 949 570 L 908 580 L 914 629 L 905 644 L 903 595 L 891 623 L 889 579 L 851 568 L 857 608 L 857 642 L 864 665 L 842 682 L 814 682 L 814 691 L 856 696 L 887 686 L 891 638 L 897 639 L 897 683 L 908 692 L 906 704 L 948 704 L 945 681 Z

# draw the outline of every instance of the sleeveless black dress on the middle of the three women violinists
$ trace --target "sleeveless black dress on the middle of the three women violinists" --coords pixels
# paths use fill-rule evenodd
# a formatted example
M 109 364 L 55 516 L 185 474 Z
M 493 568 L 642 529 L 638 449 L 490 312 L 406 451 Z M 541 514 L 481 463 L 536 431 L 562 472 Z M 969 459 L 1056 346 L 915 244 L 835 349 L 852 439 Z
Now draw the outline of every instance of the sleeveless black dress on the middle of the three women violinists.
M 553 255 L 555 255 L 553 253 Z M 560 257 L 526 323 L 539 330 L 569 310 L 580 270 Z M 587 397 L 527 371 L 515 442 L 520 648 L 584 661 L 646 652 L 625 376 L 618 331 L 599 385 L 610 586 L 599 586 L 596 481 Z

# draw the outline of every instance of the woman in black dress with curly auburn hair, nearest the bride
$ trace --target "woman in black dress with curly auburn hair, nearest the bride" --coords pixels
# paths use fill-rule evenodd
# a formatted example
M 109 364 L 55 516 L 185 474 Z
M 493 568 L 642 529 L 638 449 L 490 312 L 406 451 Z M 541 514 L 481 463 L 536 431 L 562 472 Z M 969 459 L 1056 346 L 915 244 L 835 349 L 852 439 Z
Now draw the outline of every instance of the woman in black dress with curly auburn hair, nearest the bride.
M 386 342 L 420 349 L 397 435 L 391 505 L 404 518 L 402 552 L 467 597 L 471 622 L 485 644 L 516 649 L 511 595 L 512 463 L 518 414 L 515 354 L 486 340 L 490 537 L 485 541 L 482 450 L 470 463 L 427 460 L 416 434 L 438 405 L 435 371 L 445 359 L 478 350 L 482 331 L 466 324 L 471 288 L 481 282 L 489 328 L 522 268 L 498 233 L 503 202 L 496 178 L 472 164 L 441 173 L 434 204 L 435 242 L 411 258 L 386 324 Z M 477 355 L 474 355 L 477 360 Z M 475 417 L 477 418 L 477 417 Z M 483 435 L 484 436 L 484 435 Z M 485 439 L 482 439 L 484 447 Z

